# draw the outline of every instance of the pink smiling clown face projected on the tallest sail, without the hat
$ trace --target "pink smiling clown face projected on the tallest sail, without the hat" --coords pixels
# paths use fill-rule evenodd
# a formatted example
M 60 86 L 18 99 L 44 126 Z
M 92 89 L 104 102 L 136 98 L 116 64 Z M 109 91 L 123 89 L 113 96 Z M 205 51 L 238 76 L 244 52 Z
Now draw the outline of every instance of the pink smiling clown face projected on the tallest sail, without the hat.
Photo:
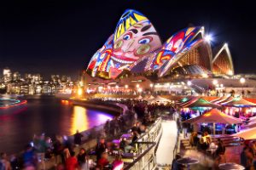
M 113 44 L 113 64 L 119 70 L 131 69 L 138 59 L 160 48 L 161 42 L 154 26 L 143 20 L 130 27 Z

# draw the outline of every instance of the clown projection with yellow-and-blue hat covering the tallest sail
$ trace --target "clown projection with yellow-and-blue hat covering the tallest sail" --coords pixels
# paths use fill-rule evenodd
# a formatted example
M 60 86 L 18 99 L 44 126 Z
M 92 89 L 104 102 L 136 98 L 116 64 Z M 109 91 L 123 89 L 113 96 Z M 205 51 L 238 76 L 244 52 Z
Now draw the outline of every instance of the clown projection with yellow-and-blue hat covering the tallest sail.
M 160 37 L 151 22 L 129 9 L 121 16 L 113 36 L 94 54 L 87 70 L 92 77 L 116 78 L 159 48 Z

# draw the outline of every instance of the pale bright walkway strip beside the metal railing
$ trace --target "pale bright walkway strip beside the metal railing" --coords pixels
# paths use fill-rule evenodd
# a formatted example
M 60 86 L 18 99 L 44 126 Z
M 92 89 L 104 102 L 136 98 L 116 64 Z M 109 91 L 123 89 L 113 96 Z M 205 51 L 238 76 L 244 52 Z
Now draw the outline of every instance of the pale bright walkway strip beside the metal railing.
M 156 162 L 158 165 L 172 164 L 173 149 L 177 139 L 177 123 L 174 121 L 162 122 L 163 133 L 159 147 L 156 151 Z

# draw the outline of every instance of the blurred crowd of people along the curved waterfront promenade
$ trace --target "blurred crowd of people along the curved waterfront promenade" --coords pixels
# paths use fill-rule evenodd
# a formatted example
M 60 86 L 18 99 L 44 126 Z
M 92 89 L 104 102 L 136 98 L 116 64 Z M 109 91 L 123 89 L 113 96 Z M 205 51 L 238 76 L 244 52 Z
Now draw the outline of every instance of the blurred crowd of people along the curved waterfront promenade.
M 49 138 L 43 133 L 34 135 L 32 142 L 26 144 L 21 154 L 7 156 L 1 153 L 0 170 L 48 169 L 47 161 L 54 162 L 58 170 L 87 170 L 91 165 L 95 169 L 121 169 L 124 166 L 122 153 L 135 152 L 137 139 L 154 123 L 160 111 L 172 111 L 173 108 L 171 105 L 148 105 L 144 101 L 134 100 L 121 100 L 119 103 L 127 105 L 127 112 L 108 120 L 101 133 L 90 134 L 90 139 L 97 140 L 95 149 L 83 148 L 84 135 L 79 132 L 73 135 L 73 141 L 65 135 Z M 120 138 L 122 133 L 130 133 L 131 140 Z M 119 139 L 118 146 L 113 144 L 113 139 Z M 79 152 L 76 153 L 78 147 Z M 119 152 L 114 153 L 116 147 Z

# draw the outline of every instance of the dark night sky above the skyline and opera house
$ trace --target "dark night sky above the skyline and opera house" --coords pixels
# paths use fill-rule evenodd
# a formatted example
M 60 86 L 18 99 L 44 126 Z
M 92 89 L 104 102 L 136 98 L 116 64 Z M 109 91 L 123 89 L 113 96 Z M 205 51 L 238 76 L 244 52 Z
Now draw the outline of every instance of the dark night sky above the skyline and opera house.
M 162 42 L 189 24 L 205 26 L 213 47 L 229 43 L 236 73 L 256 71 L 256 14 L 245 0 L 2 1 L 0 70 L 77 77 L 126 8 L 145 14 Z

